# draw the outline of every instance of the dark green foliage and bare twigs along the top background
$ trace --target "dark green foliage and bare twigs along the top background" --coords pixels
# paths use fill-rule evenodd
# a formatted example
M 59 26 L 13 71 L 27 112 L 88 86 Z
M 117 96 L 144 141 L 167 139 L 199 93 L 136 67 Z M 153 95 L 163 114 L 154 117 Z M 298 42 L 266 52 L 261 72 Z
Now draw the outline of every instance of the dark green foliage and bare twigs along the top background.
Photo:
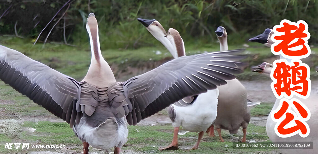
M 0 34 L 36 39 L 46 24 L 67 0 L 2 0 Z M 88 7 L 89 5 L 89 7 Z M 41 34 L 44 40 L 64 7 Z M 102 48 L 139 48 L 159 44 L 136 19 L 158 20 L 168 30 L 178 30 L 186 45 L 209 46 L 217 40 L 214 31 L 224 26 L 229 43 L 244 43 L 249 38 L 273 28 L 282 19 L 305 20 L 311 33 L 311 44 L 318 42 L 318 0 L 73 0 L 66 13 L 66 38 L 69 43 L 87 42 L 86 18 L 94 12 L 99 22 Z M 36 18 L 34 18 L 36 17 Z M 37 24 L 38 23 L 38 24 Z M 63 42 L 62 19 L 54 27 L 49 41 Z M 36 26 L 35 26 L 36 25 Z M 35 27 L 34 27 L 35 26 Z

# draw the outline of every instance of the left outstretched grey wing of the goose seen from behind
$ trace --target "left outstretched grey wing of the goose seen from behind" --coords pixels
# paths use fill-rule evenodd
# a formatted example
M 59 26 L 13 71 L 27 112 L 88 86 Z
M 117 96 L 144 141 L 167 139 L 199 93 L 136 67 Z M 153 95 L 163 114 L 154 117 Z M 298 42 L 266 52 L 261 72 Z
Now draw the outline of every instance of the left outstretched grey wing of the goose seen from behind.
M 80 85 L 73 78 L 0 45 L 0 79 L 71 127 L 79 122 Z

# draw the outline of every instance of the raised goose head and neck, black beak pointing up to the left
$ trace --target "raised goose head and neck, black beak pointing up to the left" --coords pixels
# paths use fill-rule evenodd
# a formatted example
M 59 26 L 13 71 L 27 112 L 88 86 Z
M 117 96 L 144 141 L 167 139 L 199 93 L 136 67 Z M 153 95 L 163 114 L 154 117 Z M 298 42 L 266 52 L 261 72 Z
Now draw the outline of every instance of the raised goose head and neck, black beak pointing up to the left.
M 176 49 L 172 46 L 170 41 L 165 37 L 167 35 L 166 30 L 156 19 L 142 19 L 137 18 L 137 20 L 142 23 L 146 29 L 154 36 L 158 41 L 160 41 L 163 46 L 165 46 L 168 51 L 172 54 L 173 58 L 178 58 Z

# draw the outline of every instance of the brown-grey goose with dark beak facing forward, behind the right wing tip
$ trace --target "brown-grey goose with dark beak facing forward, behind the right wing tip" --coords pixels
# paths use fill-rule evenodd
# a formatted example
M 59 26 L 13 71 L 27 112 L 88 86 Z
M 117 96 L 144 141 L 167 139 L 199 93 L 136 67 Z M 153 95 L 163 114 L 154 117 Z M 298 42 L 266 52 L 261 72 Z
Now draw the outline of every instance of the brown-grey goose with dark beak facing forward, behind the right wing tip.
M 228 50 L 227 32 L 225 28 L 219 26 L 215 33 L 220 42 L 220 50 Z M 217 129 L 222 142 L 224 142 L 224 140 L 221 136 L 221 129 L 226 129 L 229 130 L 230 133 L 236 134 L 238 129 L 242 126 L 242 142 L 246 142 L 246 129 L 251 119 L 250 111 L 247 108 L 247 90 L 237 79 L 226 82 L 228 84 L 218 87 L 220 90 L 218 97 L 218 115 L 213 125 Z M 221 95 L 222 91 L 224 91 L 224 94 Z

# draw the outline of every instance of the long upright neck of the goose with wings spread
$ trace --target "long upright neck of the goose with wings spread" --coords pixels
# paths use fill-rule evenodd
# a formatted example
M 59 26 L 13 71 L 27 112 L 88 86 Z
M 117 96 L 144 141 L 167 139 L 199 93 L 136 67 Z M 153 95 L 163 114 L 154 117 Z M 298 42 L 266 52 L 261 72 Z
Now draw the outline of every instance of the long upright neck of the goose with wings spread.
M 116 80 L 113 71 L 101 54 L 98 27 L 96 26 L 95 28 L 92 26 L 87 31 L 90 39 L 92 59 L 83 81 L 97 87 L 108 87 L 116 82 Z

